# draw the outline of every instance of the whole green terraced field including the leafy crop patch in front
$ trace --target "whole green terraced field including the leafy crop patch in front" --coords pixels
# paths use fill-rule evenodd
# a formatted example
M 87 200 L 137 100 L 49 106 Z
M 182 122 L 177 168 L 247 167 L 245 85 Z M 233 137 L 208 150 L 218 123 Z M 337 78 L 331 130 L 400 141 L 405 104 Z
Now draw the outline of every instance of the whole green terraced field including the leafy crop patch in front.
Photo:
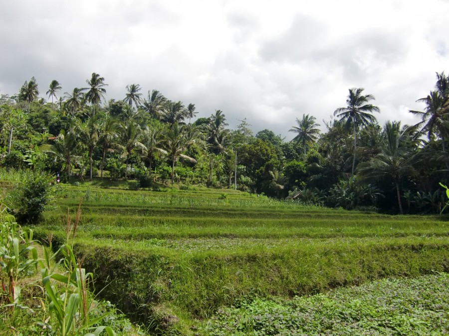
M 105 288 L 99 297 L 149 333 L 448 332 L 447 216 L 334 210 L 204 187 L 58 187 L 34 237 L 56 249 L 81 200 L 73 250 L 95 288 Z

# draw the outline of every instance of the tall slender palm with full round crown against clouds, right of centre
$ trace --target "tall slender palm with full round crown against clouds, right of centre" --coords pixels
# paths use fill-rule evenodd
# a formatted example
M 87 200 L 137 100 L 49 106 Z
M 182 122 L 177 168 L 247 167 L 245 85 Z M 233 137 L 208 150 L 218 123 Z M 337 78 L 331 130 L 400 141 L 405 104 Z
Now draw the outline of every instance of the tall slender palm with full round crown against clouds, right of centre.
M 338 108 L 335 110 L 334 115 L 340 118 L 340 121 L 345 121 L 347 129 L 351 126 L 354 132 L 354 155 L 352 161 L 352 175 L 354 175 L 356 152 L 357 152 L 357 129 L 360 126 L 368 125 L 376 121 L 376 117 L 371 114 L 372 112 L 380 112 L 377 106 L 367 104 L 369 101 L 374 100 L 373 95 L 362 95 L 363 88 L 349 89 L 348 99 L 346 100 L 347 106 L 345 108 Z

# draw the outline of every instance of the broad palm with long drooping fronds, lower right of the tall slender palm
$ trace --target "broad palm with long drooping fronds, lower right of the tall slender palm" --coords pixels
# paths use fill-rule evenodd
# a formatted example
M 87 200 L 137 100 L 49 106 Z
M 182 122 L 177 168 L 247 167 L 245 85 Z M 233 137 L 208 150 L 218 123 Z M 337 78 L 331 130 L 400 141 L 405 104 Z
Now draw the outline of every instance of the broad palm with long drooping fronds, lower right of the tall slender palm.
M 388 121 L 384 127 L 385 144 L 382 152 L 358 167 L 358 175 L 365 180 L 385 180 L 392 178 L 395 183 L 399 211 L 404 213 L 401 202 L 401 180 L 404 176 L 416 175 L 414 168 L 416 159 L 414 138 L 415 126 L 403 127 L 401 122 Z

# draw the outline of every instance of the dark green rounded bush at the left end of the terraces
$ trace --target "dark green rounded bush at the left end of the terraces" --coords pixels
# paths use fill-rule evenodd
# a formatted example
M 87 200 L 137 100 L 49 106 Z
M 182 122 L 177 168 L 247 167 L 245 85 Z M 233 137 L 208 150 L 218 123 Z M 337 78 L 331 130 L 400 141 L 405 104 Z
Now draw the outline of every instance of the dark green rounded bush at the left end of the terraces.
M 53 197 L 54 177 L 40 171 L 25 174 L 11 194 L 11 205 L 18 223 L 35 223 Z

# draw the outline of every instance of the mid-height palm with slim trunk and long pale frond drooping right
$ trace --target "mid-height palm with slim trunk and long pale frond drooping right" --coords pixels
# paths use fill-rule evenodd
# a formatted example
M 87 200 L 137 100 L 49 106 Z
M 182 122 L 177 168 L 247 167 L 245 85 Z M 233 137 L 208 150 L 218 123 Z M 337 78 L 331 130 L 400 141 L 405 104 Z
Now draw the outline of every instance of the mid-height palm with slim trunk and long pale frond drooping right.
M 194 158 L 183 154 L 187 147 L 192 144 L 192 141 L 193 139 L 187 137 L 186 126 L 177 122 L 169 128 L 165 135 L 164 147 L 172 159 L 172 183 L 175 181 L 175 162 L 178 158 L 181 157 L 197 163 Z

